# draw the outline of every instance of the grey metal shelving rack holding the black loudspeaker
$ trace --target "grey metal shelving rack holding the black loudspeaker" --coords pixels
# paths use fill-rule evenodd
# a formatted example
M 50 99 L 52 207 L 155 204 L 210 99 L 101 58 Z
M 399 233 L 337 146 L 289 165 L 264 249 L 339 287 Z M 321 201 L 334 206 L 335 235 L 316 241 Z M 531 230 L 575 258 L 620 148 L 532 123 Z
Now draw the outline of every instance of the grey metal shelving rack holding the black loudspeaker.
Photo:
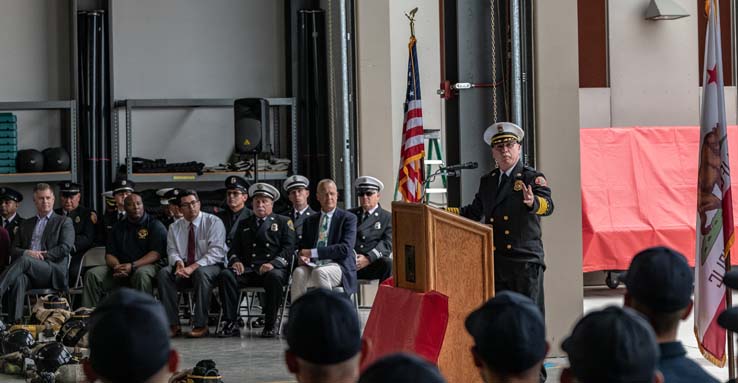
M 295 98 L 267 98 L 270 108 L 289 107 L 291 115 L 291 160 L 292 171 L 297 173 L 297 100 Z M 196 173 L 133 173 L 133 122 L 131 120 L 134 109 L 169 109 L 169 108 L 233 108 L 235 99 L 232 98 L 180 98 L 180 99 L 127 99 L 115 101 L 113 111 L 113 174 L 118 171 L 120 122 L 118 109 L 125 108 L 126 120 L 126 172 L 127 178 L 135 182 L 222 182 L 230 175 L 243 176 L 244 172 L 209 172 L 197 175 Z M 280 180 L 287 177 L 286 172 L 259 173 L 260 180 Z

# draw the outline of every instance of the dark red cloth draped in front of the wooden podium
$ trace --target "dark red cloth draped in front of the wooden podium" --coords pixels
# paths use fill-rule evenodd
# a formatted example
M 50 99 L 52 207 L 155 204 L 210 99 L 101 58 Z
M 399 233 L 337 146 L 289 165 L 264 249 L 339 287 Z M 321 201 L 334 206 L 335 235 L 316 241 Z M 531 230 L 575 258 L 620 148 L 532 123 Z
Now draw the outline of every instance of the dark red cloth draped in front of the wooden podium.
M 413 352 L 437 364 L 447 324 L 447 296 L 380 285 L 364 327 L 369 352 L 361 370 L 382 356 L 400 351 Z

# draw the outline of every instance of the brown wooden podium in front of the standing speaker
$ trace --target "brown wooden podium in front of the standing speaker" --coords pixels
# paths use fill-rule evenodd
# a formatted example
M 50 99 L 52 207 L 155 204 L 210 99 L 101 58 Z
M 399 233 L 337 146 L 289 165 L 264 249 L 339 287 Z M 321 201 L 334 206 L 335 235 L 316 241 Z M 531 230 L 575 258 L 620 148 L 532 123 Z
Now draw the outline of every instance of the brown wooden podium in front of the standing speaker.
M 441 372 L 450 383 L 481 382 L 464 320 L 494 296 L 492 228 L 426 205 L 393 202 L 392 246 L 397 287 L 449 297 Z

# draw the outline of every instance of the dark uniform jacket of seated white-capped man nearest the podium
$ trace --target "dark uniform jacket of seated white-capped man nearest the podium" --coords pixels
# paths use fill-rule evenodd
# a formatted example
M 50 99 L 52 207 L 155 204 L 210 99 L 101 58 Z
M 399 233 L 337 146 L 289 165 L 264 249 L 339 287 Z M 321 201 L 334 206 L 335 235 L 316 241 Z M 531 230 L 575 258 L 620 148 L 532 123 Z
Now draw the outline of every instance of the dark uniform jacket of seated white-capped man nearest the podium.
M 361 222 L 364 209 L 361 207 L 349 210 L 356 214 L 357 222 Z M 356 254 L 364 254 L 374 262 L 380 257 L 392 254 L 392 213 L 377 206 L 374 213 L 356 227 Z

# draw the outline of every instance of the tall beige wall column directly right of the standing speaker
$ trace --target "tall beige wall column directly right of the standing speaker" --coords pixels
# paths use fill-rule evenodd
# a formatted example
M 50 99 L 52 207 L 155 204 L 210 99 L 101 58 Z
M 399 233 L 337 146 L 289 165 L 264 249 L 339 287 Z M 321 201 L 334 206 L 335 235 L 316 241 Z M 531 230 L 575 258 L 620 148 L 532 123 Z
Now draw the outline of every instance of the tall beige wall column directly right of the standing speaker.
M 579 73 L 577 45 L 571 43 L 577 41 L 576 17 L 576 0 L 539 1 L 535 7 L 538 169 L 546 175 L 556 206 L 542 220 L 551 355 L 561 355 L 561 340 L 582 313 Z

